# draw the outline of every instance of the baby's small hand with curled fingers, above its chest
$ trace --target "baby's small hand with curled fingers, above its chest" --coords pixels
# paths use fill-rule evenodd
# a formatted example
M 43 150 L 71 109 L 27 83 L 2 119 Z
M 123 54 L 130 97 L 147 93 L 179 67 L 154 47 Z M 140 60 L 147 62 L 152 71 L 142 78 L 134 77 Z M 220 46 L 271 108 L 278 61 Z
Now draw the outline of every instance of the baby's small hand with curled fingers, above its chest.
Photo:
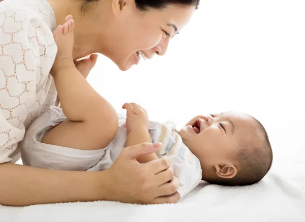
M 122 108 L 127 110 L 127 133 L 137 128 L 142 128 L 148 131 L 149 120 L 147 111 L 145 109 L 136 103 L 125 103 Z

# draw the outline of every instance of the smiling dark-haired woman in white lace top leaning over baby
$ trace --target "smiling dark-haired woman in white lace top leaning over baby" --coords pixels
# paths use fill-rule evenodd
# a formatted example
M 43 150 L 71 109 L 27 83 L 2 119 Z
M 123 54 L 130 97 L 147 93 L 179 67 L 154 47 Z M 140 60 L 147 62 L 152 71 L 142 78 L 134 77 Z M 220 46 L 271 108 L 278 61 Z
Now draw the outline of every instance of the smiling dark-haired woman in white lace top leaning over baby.
M 199 0 L 5 0 L 0 2 L 0 204 L 113 200 L 174 203 L 178 181 L 170 161 L 139 164 L 135 158 L 160 144 L 140 144 L 120 153 L 109 170 L 74 172 L 15 165 L 17 143 L 49 106 L 58 105 L 52 68 L 52 31 L 72 14 L 76 22 L 73 58 L 99 52 L 120 70 L 140 58 L 163 55 L 172 38 L 198 7 Z M 78 61 L 86 77 L 97 56 Z M 167 181 L 170 181 L 167 183 Z

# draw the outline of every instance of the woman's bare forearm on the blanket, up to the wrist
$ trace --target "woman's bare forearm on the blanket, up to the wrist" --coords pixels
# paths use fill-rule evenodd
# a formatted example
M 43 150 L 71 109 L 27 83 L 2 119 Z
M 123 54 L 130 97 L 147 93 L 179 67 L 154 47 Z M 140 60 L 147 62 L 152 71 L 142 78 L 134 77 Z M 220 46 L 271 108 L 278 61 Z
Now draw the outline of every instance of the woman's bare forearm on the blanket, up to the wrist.
M 16 164 L 0 164 L 0 204 L 33 204 L 106 200 L 106 171 L 46 170 Z

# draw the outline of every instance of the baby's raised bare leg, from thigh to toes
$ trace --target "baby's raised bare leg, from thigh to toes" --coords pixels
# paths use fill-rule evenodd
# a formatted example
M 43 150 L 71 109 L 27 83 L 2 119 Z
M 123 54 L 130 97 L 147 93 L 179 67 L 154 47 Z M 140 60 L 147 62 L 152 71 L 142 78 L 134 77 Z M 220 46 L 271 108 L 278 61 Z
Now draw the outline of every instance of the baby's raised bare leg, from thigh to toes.
M 69 120 L 52 129 L 42 142 L 76 149 L 101 149 L 115 136 L 117 114 L 76 69 L 72 59 L 73 28 L 71 19 L 54 32 L 58 52 L 51 70 L 60 104 Z

